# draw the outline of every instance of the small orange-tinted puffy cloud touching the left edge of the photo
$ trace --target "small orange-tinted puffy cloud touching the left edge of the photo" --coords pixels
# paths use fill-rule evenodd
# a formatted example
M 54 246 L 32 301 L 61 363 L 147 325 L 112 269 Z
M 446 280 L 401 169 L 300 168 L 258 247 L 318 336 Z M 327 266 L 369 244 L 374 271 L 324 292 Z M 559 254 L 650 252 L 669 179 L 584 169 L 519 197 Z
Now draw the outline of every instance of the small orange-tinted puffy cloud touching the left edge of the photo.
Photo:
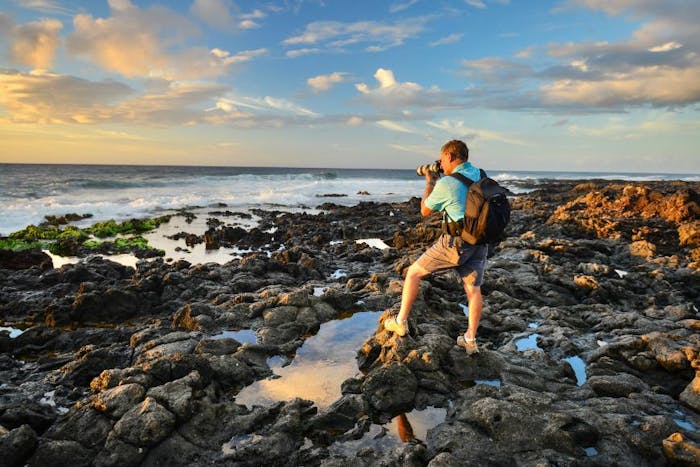
M 62 28 L 63 24 L 55 19 L 15 24 L 12 18 L 0 13 L 0 37 L 5 36 L 9 42 L 9 58 L 13 63 L 35 69 L 51 68 L 61 44 Z

